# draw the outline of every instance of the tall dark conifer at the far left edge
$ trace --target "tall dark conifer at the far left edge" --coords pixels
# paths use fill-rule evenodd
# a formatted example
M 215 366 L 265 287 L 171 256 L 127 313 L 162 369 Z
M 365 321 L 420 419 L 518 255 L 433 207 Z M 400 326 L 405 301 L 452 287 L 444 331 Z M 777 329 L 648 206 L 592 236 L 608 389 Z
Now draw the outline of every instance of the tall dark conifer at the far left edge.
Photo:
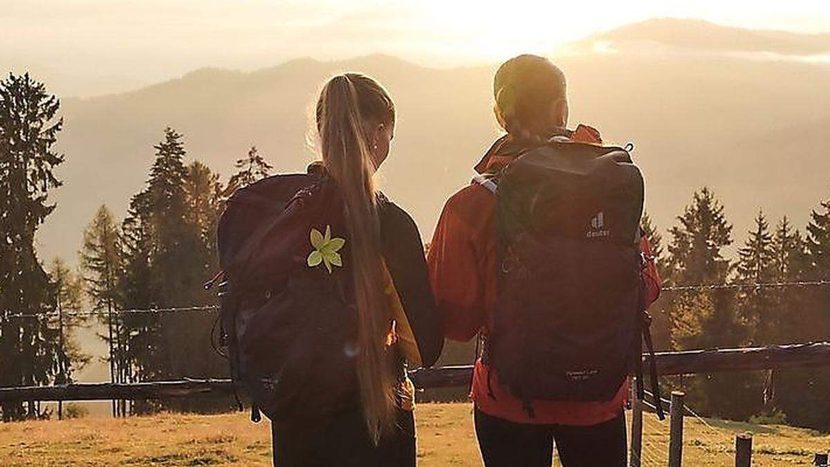
M 0 81 L 0 386 L 50 384 L 66 361 L 48 315 L 56 286 L 37 259 L 35 234 L 55 209 L 54 170 L 64 160 L 53 146 L 63 120 L 60 102 L 26 74 Z M 36 317 L 12 318 L 22 313 Z M 47 415 L 35 401 L 5 402 L 2 420 Z

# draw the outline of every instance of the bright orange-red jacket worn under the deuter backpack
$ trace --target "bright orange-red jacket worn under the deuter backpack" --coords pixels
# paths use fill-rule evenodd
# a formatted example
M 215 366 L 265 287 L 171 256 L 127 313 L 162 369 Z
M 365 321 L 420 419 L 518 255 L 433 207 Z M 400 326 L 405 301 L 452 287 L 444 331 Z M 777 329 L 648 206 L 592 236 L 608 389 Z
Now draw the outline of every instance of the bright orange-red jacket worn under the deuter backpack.
M 598 131 L 586 125 L 579 125 L 569 137 L 602 143 Z M 481 174 L 510 163 L 510 157 L 499 155 L 500 146 L 508 140 L 507 136 L 497 140 L 476 165 L 476 171 Z M 640 248 L 652 258 L 647 238 L 641 238 Z M 496 196 L 489 189 L 474 182 L 447 200 L 432 237 L 427 264 L 445 336 L 466 342 L 478 332 L 486 335 L 496 305 Z M 645 308 L 660 294 L 661 280 L 653 260 L 643 271 L 642 280 L 646 286 Z M 492 378 L 492 396 L 487 391 L 488 378 Z M 619 415 L 627 392 L 628 384 L 624 383 L 611 401 L 533 401 L 535 417 L 530 418 L 521 401 L 501 386 L 496 372 L 478 360 L 471 397 L 487 415 L 516 423 L 597 425 Z

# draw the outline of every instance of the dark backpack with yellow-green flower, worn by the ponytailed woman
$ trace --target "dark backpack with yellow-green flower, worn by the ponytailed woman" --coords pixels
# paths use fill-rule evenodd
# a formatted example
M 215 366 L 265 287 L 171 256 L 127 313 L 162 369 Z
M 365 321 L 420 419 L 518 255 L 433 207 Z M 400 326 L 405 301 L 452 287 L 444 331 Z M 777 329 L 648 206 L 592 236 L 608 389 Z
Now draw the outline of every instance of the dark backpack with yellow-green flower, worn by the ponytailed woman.
M 343 238 L 343 205 L 320 168 L 239 189 L 217 243 L 222 340 L 234 381 L 271 420 L 309 418 L 354 403 L 357 322 L 349 271 L 312 267 L 312 229 Z M 339 250 L 348 255 L 348 244 Z

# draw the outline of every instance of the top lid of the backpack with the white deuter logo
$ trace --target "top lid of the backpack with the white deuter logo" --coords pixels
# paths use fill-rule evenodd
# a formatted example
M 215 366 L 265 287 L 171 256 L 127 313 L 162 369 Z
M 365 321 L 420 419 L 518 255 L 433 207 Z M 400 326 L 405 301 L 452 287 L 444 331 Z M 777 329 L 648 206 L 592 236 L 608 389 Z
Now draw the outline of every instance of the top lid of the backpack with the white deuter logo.
M 644 184 L 622 148 L 551 140 L 520 154 L 498 185 L 502 234 L 637 242 Z

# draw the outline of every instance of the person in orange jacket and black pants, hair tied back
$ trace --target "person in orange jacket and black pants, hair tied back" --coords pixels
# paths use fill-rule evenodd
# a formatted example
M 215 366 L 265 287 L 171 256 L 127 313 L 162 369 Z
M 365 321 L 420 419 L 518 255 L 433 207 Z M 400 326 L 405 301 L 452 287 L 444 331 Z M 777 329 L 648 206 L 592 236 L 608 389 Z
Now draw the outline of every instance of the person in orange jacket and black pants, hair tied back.
M 550 61 L 520 56 L 505 62 L 494 81 L 496 118 L 506 135 L 481 162 L 480 175 L 499 172 L 520 148 L 546 140 L 601 144 L 586 125 L 567 130 L 564 74 Z M 651 247 L 641 238 L 643 257 Z M 496 196 L 481 179 L 454 194 L 445 205 L 430 244 L 427 263 L 446 337 L 466 342 L 492 328 L 496 307 Z M 642 306 L 657 299 L 660 278 L 653 261 L 642 280 Z M 479 359 L 473 373 L 476 435 L 488 467 L 551 465 L 554 439 L 563 465 L 626 465 L 623 406 L 627 384 L 610 401 L 533 401 L 534 413 L 500 384 Z

